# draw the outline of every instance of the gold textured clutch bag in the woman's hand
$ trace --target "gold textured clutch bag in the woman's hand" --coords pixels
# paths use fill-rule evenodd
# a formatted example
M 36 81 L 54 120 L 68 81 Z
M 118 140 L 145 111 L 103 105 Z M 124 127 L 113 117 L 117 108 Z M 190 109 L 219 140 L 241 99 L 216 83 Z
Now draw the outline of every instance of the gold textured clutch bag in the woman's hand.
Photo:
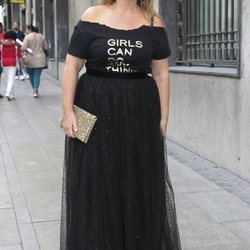
M 90 133 L 97 121 L 97 117 L 86 110 L 79 108 L 78 106 L 73 106 L 73 112 L 76 116 L 76 125 L 77 132 L 75 133 L 75 137 L 80 141 L 87 143 Z M 61 127 L 62 127 L 61 121 Z

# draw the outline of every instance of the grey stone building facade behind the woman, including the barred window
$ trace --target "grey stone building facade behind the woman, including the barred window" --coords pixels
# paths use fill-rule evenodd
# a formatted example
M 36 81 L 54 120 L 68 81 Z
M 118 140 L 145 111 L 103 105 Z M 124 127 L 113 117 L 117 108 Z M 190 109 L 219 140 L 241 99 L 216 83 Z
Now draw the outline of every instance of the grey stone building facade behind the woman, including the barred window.
M 32 22 L 49 41 L 61 79 L 74 25 L 91 0 L 32 1 Z M 250 180 L 250 2 L 159 0 L 169 34 L 169 139 Z M 25 6 L 12 6 L 25 20 Z

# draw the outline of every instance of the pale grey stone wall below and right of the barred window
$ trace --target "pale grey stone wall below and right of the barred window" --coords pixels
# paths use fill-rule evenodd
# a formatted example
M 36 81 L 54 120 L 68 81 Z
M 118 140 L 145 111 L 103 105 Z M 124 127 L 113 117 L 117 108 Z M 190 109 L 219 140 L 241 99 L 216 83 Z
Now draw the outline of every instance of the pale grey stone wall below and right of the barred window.
M 250 180 L 250 2 L 241 3 L 241 77 L 171 72 L 168 137 Z

